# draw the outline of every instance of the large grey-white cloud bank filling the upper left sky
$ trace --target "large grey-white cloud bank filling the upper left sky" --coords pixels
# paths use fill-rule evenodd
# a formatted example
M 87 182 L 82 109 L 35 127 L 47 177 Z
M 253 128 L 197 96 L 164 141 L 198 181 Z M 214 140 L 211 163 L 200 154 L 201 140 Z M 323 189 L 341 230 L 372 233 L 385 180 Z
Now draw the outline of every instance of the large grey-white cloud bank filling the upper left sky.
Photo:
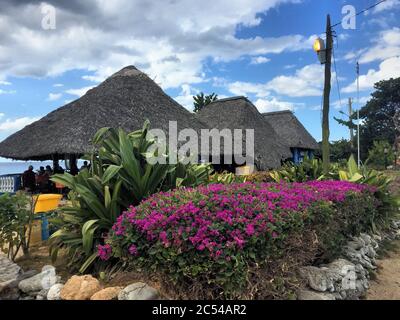
M 231 61 L 309 49 L 314 36 L 236 37 L 238 25 L 258 25 L 258 13 L 283 2 L 298 1 L 54 0 L 56 29 L 43 30 L 39 1 L 3 0 L 0 78 L 83 69 L 84 79 L 98 82 L 134 64 L 164 89 L 199 83 L 209 57 Z

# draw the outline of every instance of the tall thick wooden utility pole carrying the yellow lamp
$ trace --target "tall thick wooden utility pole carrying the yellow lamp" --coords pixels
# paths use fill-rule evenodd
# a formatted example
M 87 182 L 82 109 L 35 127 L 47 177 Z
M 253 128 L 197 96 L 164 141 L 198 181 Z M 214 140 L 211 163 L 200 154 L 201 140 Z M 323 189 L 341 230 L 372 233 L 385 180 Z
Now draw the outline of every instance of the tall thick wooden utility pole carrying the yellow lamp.
M 324 104 L 322 108 L 322 167 L 324 173 L 329 173 L 329 95 L 331 93 L 331 60 L 332 60 L 332 28 L 331 18 L 326 19 L 326 62 L 324 83 Z

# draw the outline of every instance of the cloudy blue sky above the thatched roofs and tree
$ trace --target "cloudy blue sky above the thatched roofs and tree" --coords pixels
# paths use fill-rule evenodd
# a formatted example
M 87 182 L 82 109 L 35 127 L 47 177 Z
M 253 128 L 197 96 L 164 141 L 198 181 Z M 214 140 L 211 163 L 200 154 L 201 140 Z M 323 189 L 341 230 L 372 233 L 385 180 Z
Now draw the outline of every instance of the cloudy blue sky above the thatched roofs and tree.
M 326 14 L 342 20 L 377 0 L 257 1 L 13 1 L 0 4 L 0 141 L 77 99 L 107 76 L 133 64 L 191 109 L 192 95 L 245 95 L 261 112 L 292 109 L 321 139 L 323 66 L 312 51 Z M 55 9 L 55 29 L 43 19 Z M 333 116 L 373 83 L 400 76 L 400 1 L 387 0 L 335 27 L 336 77 L 331 92 L 331 140 L 348 132 Z M 334 69 L 332 69 L 334 71 Z M 357 104 L 355 104 L 357 107 Z

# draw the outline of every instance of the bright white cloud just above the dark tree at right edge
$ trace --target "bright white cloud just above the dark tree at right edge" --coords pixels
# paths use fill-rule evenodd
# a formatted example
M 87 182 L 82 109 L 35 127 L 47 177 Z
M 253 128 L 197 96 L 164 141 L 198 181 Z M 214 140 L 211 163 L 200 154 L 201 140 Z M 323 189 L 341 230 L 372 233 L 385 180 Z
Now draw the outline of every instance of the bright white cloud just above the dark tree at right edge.
M 390 78 L 399 77 L 400 70 L 400 57 L 393 57 L 384 60 L 379 64 L 379 69 L 369 69 L 367 74 L 361 75 L 359 78 L 360 90 L 370 90 L 374 87 L 374 84 L 381 80 L 388 80 Z M 343 92 L 356 92 L 357 82 L 354 80 L 353 83 L 345 87 Z

